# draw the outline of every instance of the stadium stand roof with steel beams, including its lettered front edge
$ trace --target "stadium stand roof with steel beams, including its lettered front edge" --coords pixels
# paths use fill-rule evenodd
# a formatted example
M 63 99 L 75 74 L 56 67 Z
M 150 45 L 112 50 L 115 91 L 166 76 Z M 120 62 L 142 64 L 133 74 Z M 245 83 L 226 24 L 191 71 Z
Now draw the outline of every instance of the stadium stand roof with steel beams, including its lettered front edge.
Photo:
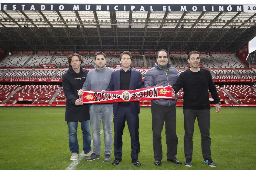
M 24 5 L 0 5 L 8 50 L 234 52 L 256 35 L 252 5 Z

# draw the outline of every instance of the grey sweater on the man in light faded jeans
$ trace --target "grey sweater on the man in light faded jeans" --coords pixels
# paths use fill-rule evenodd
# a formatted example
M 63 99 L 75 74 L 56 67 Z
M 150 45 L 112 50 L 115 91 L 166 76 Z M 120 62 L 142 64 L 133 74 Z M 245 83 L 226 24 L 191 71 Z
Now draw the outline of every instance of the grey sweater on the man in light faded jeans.
M 94 66 L 94 69 L 88 72 L 82 90 L 106 90 L 109 86 L 113 71 L 112 69 L 107 69 L 106 66 L 103 69 L 97 69 L 96 66 Z

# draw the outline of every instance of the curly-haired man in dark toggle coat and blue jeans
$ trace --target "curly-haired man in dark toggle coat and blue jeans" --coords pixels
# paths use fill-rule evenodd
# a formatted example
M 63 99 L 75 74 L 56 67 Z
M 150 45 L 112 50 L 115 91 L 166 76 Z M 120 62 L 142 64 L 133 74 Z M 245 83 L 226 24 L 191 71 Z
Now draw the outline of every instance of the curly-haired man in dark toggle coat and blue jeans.
M 83 152 L 84 156 L 90 156 L 91 151 L 91 133 L 90 133 L 90 114 L 89 105 L 83 104 L 79 100 L 77 91 L 82 88 L 86 80 L 86 69 L 80 65 L 83 63 L 83 58 L 79 54 L 71 54 L 68 56 L 69 69 L 62 75 L 62 87 L 66 96 L 66 113 L 65 121 L 68 124 L 69 134 L 69 149 L 72 153 L 70 160 L 78 159 L 79 147 L 77 140 L 77 126 L 81 123 L 83 131 Z

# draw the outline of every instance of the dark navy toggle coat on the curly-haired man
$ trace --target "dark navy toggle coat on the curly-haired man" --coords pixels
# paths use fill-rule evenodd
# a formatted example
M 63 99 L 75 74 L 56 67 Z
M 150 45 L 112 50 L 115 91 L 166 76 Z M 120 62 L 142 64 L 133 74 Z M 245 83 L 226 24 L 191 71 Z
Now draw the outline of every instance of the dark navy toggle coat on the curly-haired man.
M 76 73 L 69 69 L 62 75 L 62 87 L 66 96 L 66 113 L 65 121 L 78 122 L 90 120 L 89 105 L 76 105 L 75 102 L 79 98 L 77 92 L 82 89 L 89 71 L 80 67 L 80 72 Z

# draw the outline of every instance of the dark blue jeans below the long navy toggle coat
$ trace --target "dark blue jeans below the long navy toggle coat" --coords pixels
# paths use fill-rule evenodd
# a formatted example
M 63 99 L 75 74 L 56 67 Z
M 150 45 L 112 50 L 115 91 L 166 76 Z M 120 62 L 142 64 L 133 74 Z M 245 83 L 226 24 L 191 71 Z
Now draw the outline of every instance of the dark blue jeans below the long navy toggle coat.
M 78 122 L 67 122 L 68 123 L 68 139 L 69 149 L 71 153 L 79 153 L 79 146 L 77 140 L 77 125 Z M 91 133 L 90 133 L 90 120 L 81 121 L 81 129 L 83 131 L 83 152 L 90 152 L 91 148 Z

